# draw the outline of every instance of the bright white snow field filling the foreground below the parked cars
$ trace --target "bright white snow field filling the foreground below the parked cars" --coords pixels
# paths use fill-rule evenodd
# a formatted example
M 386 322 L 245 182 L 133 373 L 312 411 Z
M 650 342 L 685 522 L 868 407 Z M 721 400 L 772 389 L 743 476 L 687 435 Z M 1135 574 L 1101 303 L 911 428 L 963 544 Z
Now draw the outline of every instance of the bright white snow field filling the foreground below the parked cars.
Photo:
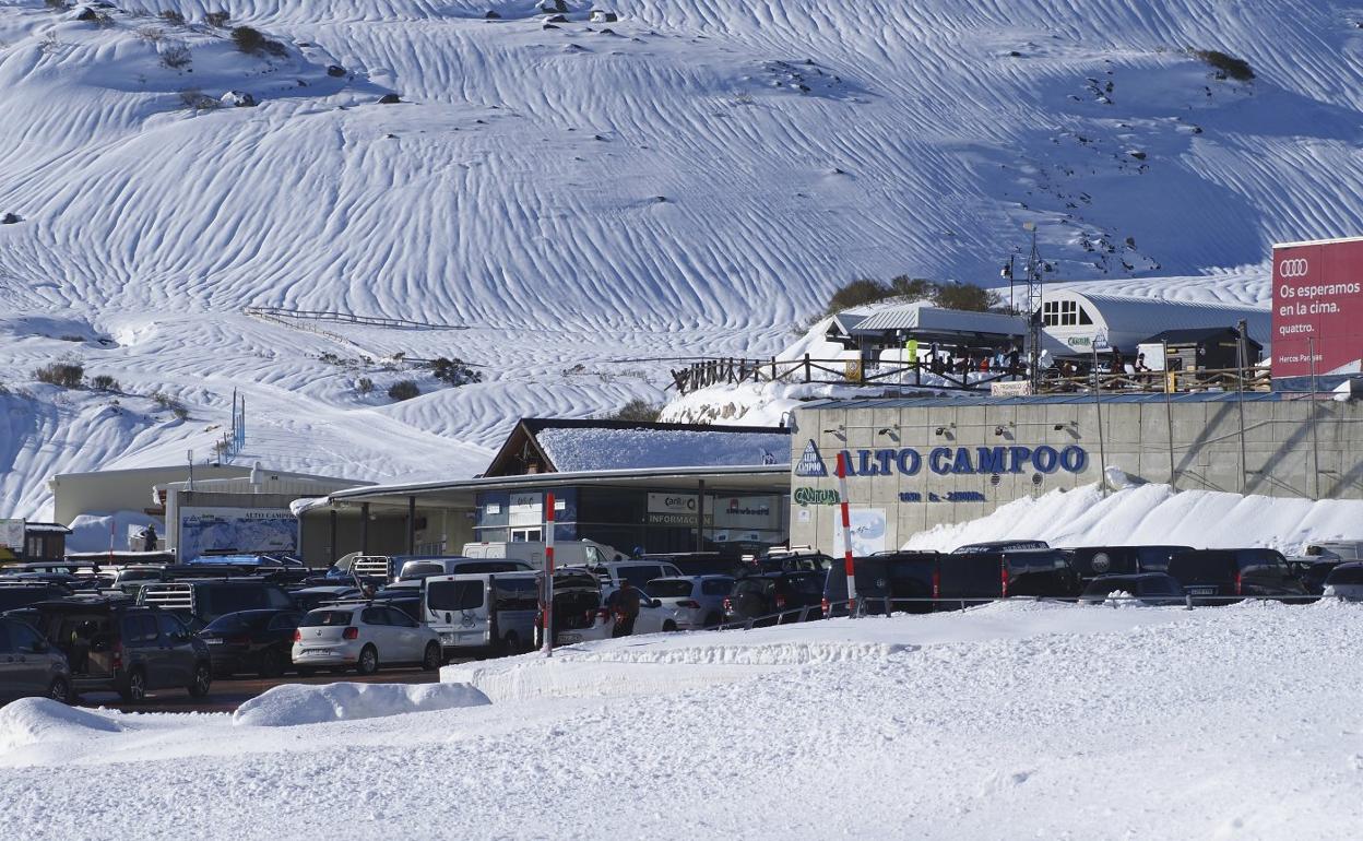
M 0 752 L 0 836 L 1353 838 L 1360 645 L 1333 601 L 1009 602 L 454 667 L 504 691 L 363 721 L 99 710 Z

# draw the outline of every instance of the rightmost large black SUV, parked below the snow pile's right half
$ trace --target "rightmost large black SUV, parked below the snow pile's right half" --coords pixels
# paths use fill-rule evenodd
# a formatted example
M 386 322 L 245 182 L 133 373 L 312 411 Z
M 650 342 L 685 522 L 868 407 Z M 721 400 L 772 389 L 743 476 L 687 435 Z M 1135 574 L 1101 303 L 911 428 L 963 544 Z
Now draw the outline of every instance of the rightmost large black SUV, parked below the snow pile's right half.
M 1194 604 L 1228 604 L 1244 596 L 1307 596 L 1277 549 L 1195 549 L 1169 560 L 1168 574 Z

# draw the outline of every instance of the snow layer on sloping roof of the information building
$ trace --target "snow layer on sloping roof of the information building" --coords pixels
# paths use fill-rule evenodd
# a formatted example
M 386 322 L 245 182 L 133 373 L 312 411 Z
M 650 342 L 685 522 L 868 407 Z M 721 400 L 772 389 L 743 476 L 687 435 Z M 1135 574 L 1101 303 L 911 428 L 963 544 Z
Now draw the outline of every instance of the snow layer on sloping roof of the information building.
M 638 468 L 785 465 L 785 432 L 733 429 L 617 429 L 551 427 L 536 440 L 560 473 Z

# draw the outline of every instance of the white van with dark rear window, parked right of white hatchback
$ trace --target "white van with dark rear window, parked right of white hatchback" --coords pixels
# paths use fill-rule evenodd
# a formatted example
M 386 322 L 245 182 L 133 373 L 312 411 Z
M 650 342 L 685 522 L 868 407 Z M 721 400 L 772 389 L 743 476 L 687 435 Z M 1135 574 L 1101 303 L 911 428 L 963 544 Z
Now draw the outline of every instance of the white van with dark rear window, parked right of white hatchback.
M 519 654 L 534 643 L 540 574 L 431 575 L 421 585 L 421 620 L 440 635 L 446 656 L 492 650 Z

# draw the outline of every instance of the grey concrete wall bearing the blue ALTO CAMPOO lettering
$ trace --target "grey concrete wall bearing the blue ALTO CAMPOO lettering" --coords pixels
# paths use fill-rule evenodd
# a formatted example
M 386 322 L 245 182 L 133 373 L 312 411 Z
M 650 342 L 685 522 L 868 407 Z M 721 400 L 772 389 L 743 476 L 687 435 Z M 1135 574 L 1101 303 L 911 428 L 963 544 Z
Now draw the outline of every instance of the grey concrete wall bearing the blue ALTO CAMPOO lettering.
M 795 414 L 792 470 L 799 470 L 814 440 L 829 476 L 792 474 L 791 542 L 833 551 L 837 506 L 800 504 L 799 489 L 815 491 L 804 493 L 807 499 L 837 499 L 834 465 L 842 450 L 849 451 L 853 470 L 860 466 L 859 450 L 912 448 L 923 458 L 913 476 L 894 469 L 848 480 L 853 515 L 859 508 L 885 510 L 886 549 L 902 545 L 916 532 L 975 519 L 1014 499 L 1096 483 L 1104 462 L 1139 480 L 1169 483 L 1171 453 L 1172 484 L 1180 491 L 1314 498 L 1319 481 L 1321 498 L 1363 499 L 1363 402 L 1246 401 L 1243 410 L 1242 470 L 1240 408 L 1234 399 L 1104 402 L 1101 435 L 1100 409 L 1092 402 L 969 406 L 943 401 L 913 408 L 841 409 L 834 403 L 803 409 Z M 942 435 L 936 433 L 939 428 Z M 1003 435 L 996 435 L 999 428 Z M 1319 476 L 1313 439 L 1318 439 Z M 979 447 L 1014 446 L 1048 446 L 1056 451 L 1082 447 L 1088 458 L 1079 472 L 1054 473 L 1043 473 L 1030 462 L 1018 472 L 998 474 L 936 473 L 930 465 L 938 447 L 968 448 L 973 462 L 979 461 Z M 921 500 L 901 498 L 915 493 Z

